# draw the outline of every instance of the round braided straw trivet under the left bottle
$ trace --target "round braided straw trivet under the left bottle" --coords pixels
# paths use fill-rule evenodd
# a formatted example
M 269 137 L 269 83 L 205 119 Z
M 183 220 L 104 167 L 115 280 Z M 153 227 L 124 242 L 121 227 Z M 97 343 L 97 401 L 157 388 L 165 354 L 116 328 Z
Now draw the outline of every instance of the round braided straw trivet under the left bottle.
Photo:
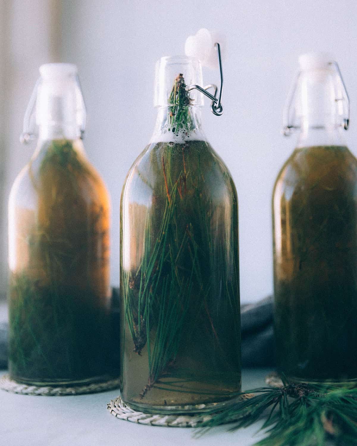
M 71 387 L 54 386 L 30 386 L 10 379 L 6 374 L 0 376 L 0 389 L 6 392 L 20 393 L 21 395 L 65 396 L 81 395 L 84 393 L 104 392 L 119 387 L 119 379 L 108 380 L 92 384 L 84 384 Z

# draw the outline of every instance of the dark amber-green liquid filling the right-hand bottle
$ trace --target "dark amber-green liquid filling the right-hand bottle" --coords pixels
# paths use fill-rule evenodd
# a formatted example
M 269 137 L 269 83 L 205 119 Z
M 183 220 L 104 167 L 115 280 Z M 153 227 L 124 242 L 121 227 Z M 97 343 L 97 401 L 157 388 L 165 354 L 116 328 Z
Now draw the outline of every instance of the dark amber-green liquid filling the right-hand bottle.
M 274 187 L 278 365 L 301 380 L 357 378 L 357 162 L 296 149 Z

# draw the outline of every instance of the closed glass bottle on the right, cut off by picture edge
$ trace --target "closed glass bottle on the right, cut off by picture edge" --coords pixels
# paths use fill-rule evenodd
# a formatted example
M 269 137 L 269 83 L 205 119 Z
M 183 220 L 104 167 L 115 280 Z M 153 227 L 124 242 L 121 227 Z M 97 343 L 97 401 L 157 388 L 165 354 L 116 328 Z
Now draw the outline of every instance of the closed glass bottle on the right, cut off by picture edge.
M 287 110 L 296 149 L 273 192 L 278 367 L 297 381 L 357 378 L 357 160 L 336 62 L 300 57 Z

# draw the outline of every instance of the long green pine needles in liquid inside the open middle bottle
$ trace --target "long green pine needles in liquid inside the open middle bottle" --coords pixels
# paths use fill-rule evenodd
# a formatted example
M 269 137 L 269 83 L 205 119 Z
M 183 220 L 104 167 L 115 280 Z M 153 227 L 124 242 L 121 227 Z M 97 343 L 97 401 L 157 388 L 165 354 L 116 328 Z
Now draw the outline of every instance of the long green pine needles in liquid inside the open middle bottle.
M 207 144 L 195 140 L 158 143 L 141 166 L 152 184 L 153 204 L 141 209 L 140 263 L 121 269 L 123 328 L 129 335 L 122 352 L 139 356 L 135 373 L 142 383 L 128 397 L 134 404 L 216 402 L 240 388 L 236 214 L 227 232 L 212 230 L 220 205 L 205 182 L 206 173 L 217 178 L 221 169 Z M 229 188 L 225 182 L 222 187 Z M 234 200 L 232 194 L 225 215 Z M 224 305 L 214 313 L 217 296 Z M 210 352 L 207 358 L 199 356 L 202 349 Z M 129 380 L 134 366 L 126 364 Z

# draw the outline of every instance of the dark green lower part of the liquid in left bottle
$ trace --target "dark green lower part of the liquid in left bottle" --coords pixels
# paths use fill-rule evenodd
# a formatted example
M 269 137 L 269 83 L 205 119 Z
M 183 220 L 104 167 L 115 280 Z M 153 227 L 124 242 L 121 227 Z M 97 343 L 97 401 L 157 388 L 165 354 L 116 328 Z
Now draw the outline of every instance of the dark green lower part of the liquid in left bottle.
M 11 282 L 12 378 L 41 385 L 111 376 L 111 316 L 98 296 L 73 286 L 42 287 L 25 275 Z

